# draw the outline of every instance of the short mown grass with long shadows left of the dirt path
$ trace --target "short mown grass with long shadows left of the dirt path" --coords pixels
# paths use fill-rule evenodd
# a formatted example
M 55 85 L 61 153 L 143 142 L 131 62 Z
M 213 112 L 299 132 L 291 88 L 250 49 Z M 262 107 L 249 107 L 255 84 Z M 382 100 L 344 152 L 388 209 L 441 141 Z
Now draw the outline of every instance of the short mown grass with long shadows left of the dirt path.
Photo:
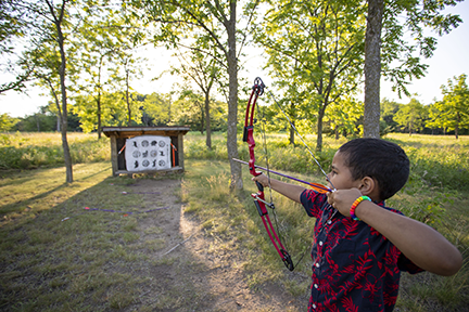
M 102 183 L 110 173 L 109 164 L 96 162 L 75 166 L 72 185 L 63 183 L 63 168 L 17 172 L 1 180 L 2 198 L 8 198 L 1 206 L 7 218 L 0 227 L 2 310 L 90 310 L 91 301 L 103 297 L 111 308 L 127 304 L 143 283 L 130 278 L 123 266 L 132 261 L 123 246 L 135 238 L 136 218 L 103 219 L 84 211 L 88 203 L 110 206 L 115 190 Z M 119 199 L 130 204 L 130 197 Z M 62 222 L 66 217 L 81 222 Z M 122 291 L 124 281 L 135 287 Z

